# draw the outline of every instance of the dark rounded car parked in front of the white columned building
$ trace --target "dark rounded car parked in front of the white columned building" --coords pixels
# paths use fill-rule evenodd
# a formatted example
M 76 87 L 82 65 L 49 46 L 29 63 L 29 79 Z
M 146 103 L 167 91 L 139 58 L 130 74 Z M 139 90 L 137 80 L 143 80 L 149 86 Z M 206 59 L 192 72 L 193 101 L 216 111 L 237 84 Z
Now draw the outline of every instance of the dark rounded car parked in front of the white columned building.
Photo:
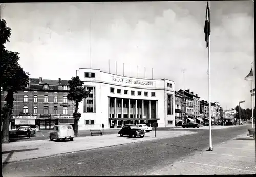
M 143 138 L 145 136 L 145 132 L 138 128 L 136 125 L 123 125 L 122 129 L 118 132 L 120 134 L 120 137 L 123 137 L 124 135 L 128 135 L 129 137 L 135 138 L 135 137 L 141 137 Z

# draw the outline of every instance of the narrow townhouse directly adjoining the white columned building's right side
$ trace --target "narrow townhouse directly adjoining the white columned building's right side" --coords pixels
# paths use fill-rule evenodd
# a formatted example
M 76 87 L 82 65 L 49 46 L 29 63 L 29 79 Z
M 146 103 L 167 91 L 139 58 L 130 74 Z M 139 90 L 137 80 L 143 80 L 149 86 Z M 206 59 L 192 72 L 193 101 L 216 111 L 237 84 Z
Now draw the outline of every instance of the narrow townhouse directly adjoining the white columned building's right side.
M 175 91 L 175 125 L 182 125 L 182 98 L 183 96 Z

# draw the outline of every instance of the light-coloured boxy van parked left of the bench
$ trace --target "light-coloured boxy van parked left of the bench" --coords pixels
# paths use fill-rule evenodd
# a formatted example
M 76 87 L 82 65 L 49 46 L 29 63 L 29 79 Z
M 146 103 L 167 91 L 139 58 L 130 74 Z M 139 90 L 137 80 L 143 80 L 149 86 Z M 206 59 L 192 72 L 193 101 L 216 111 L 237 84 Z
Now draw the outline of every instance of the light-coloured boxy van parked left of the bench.
M 72 125 L 69 124 L 61 124 L 61 125 L 55 125 L 53 127 L 53 131 L 50 132 L 50 140 L 53 141 L 55 140 L 65 140 L 65 139 L 70 139 L 70 141 L 73 141 L 75 137 L 75 132 L 73 130 Z

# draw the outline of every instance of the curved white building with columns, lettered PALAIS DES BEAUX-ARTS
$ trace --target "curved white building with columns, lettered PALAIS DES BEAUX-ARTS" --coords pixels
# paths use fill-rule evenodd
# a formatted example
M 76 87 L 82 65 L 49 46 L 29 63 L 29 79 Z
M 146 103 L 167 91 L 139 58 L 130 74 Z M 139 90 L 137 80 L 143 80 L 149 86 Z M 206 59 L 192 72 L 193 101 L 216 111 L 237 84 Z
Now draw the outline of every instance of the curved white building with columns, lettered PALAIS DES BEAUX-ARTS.
M 79 129 L 120 128 L 124 124 L 175 126 L 175 83 L 114 75 L 79 68 L 77 76 L 91 92 L 79 104 Z

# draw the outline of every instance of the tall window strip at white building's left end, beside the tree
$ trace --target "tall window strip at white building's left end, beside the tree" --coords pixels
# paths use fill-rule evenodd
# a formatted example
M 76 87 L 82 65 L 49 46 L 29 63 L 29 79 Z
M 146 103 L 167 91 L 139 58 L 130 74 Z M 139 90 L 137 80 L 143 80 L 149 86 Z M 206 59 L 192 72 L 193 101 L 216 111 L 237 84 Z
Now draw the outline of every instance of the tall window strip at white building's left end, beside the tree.
M 88 86 L 86 90 L 90 92 L 89 96 L 84 99 L 84 112 L 96 112 L 95 111 L 95 86 Z

